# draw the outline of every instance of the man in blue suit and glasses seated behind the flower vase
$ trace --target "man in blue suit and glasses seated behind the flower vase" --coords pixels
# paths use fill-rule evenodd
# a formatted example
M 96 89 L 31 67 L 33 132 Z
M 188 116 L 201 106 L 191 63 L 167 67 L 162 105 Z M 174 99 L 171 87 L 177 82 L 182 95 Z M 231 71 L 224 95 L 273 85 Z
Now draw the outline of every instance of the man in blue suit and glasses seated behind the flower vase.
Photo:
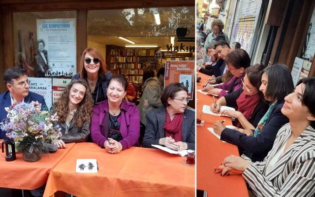
M 7 69 L 4 72 L 4 83 L 9 90 L 0 94 L 0 122 L 2 122 L 7 115 L 4 108 L 11 106 L 14 99 L 18 103 L 38 101 L 42 104 L 42 109 L 46 107 L 45 99 L 42 96 L 30 92 L 28 75 L 26 75 L 25 71 L 15 67 Z M 6 138 L 5 133 L 6 131 L 0 129 L 0 139 Z

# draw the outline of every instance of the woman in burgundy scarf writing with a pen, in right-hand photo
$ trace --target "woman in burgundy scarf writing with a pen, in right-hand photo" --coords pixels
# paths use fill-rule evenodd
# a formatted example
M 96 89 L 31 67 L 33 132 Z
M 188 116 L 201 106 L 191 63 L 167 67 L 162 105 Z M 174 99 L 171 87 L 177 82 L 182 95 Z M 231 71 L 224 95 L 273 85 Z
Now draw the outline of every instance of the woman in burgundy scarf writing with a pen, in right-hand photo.
M 266 66 L 256 64 L 246 68 L 243 88 L 221 97 L 215 104 L 210 105 L 211 111 L 235 118 L 233 125 L 240 129 L 255 129 L 258 122 L 268 110 L 268 105 L 263 101 L 262 92 L 259 91 L 261 85 L 261 75 Z M 221 106 L 229 106 L 236 109 L 220 111 Z

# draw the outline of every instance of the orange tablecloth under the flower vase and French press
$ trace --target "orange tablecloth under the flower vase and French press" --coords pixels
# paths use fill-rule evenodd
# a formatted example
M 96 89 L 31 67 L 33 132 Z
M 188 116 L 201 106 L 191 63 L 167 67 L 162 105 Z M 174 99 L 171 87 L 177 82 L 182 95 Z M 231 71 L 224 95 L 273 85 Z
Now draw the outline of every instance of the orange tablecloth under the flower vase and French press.
M 71 150 L 75 143 L 66 144 L 66 149 L 56 153 L 43 154 L 37 162 L 25 162 L 22 154 L 16 154 L 16 160 L 5 161 L 5 153 L 0 154 L 0 188 L 33 190 L 47 182 L 51 170 Z M 0 195 L 1 196 L 1 195 Z

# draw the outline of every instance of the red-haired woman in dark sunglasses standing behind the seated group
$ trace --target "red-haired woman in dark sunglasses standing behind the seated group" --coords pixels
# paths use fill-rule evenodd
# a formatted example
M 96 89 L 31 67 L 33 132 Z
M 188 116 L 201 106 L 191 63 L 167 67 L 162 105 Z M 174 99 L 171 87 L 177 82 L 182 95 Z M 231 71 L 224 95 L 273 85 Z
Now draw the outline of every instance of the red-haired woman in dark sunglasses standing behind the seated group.
M 89 84 L 94 104 L 106 99 L 108 81 L 113 74 L 106 69 L 102 55 L 95 48 L 87 48 L 83 51 L 81 60 L 81 71 L 76 73 L 72 79 L 84 79 Z

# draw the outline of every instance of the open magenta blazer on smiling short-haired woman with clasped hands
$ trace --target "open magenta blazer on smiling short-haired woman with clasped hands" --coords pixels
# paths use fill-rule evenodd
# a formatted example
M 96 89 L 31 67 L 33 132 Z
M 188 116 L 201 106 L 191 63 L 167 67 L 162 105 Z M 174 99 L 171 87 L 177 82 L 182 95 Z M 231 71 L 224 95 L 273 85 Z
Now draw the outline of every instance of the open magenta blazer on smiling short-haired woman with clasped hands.
M 102 123 L 105 113 L 109 111 L 108 99 L 98 102 L 93 108 L 93 116 L 91 122 L 91 137 L 93 141 L 99 146 L 103 147 L 106 137 L 103 135 Z M 139 110 L 134 103 L 129 101 L 122 101 L 121 115 L 118 117 L 120 125 L 120 132 L 123 139 L 120 143 L 123 150 L 131 146 L 139 146 L 138 139 L 140 136 L 140 115 Z

